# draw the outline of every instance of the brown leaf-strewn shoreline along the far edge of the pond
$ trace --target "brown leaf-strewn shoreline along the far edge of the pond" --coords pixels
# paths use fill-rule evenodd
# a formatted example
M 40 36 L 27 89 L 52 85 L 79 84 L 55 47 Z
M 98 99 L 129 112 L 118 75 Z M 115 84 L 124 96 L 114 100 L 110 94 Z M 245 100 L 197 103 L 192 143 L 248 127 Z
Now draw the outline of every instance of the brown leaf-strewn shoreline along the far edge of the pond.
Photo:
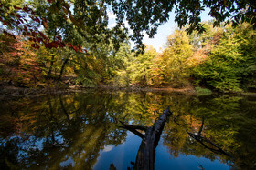
M 140 86 L 114 86 L 114 85 L 98 85 L 93 87 L 82 87 L 71 85 L 66 88 L 59 87 L 46 87 L 46 88 L 27 88 L 27 87 L 16 87 L 12 85 L 0 86 L 0 100 L 6 100 L 9 98 L 20 98 L 20 97 L 38 97 L 41 95 L 59 95 L 67 93 L 77 92 L 154 92 L 154 93 L 180 93 L 186 95 L 199 95 L 194 86 L 187 86 L 183 88 L 174 87 L 140 87 Z M 221 94 L 221 93 L 219 93 Z M 222 93 L 223 94 L 223 93 Z M 225 94 L 225 93 L 224 93 Z M 234 95 L 234 93 L 229 93 Z M 247 95 L 256 96 L 256 93 L 235 93 L 235 95 Z

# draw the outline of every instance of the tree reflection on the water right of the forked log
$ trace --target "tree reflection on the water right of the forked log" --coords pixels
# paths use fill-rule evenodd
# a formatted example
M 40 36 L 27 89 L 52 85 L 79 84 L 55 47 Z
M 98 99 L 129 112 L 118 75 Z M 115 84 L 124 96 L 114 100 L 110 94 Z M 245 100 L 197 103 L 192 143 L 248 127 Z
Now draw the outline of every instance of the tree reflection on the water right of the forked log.
M 255 115 L 250 113 L 255 112 L 255 108 L 251 109 L 252 105 L 248 105 L 246 99 L 237 96 L 192 99 L 189 103 L 181 102 L 187 105 L 176 105 L 176 110 L 184 110 L 187 114 L 174 112 L 174 121 L 165 126 L 163 138 L 169 152 L 176 156 L 185 154 L 219 159 L 235 168 L 251 169 L 256 162 L 253 154 L 256 138 L 252 135 L 256 122 Z

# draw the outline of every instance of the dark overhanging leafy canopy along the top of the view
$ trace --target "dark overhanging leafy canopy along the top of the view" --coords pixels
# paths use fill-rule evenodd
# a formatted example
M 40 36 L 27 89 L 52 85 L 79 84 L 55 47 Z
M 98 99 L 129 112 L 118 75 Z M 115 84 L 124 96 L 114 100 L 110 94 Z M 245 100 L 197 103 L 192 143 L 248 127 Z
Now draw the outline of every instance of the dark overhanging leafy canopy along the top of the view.
M 179 27 L 189 25 L 187 28 L 188 33 L 192 33 L 193 30 L 198 32 L 205 30 L 204 25 L 200 24 L 200 13 L 206 8 L 210 9 L 208 15 L 216 20 L 214 22 L 215 26 L 220 25 L 221 22 L 226 22 L 226 24 L 231 22 L 234 26 L 240 22 L 248 22 L 254 29 L 256 28 L 256 2 L 254 0 L 31 0 L 30 3 L 21 5 L 14 5 L 9 2 L 12 1 L 5 0 L 0 4 L 0 21 L 3 25 L 16 26 L 23 32 L 25 31 L 25 35 L 38 35 L 42 36 L 43 40 L 47 39 L 44 35 L 37 33 L 37 26 L 44 25 L 45 29 L 50 29 L 47 24 L 53 19 L 52 15 L 55 14 L 62 16 L 62 19 L 55 23 L 58 24 L 59 28 L 63 29 L 62 34 L 66 33 L 67 35 L 69 33 L 67 30 L 70 27 L 75 27 L 80 33 L 83 33 L 81 35 L 88 38 L 90 35 L 109 33 L 118 35 L 122 39 L 125 37 L 123 37 L 121 30 L 124 29 L 126 32 L 128 30 L 124 25 L 125 20 L 127 20 L 130 29 L 133 30 L 133 34 L 130 37 L 136 43 L 136 49 L 139 51 L 144 51 L 142 43 L 144 32 L 153 37 L 157 27 L 167 22 L 172 11 L 176 14 L 175 21 Z M 44 5 L 44 7 L 33 5 L 35 2 Z M 112 31 L 107 28 L 107 11 L 109 7 L 117 15 L 117 25 Z M 10 10 L 12 10 L 11 13 Z M 31 15 L 31 21 L 37 22 L 37 26 L 28 26 L 25 23 L 26 18 L 23 17 L 21 19 L 21 13 Z M 51 14 L 50 17 L 49 14 Z M 71 25 L 63 25 L 65 22 Z M 30 33 L 30 29 L 27 31 L 25 26 L 31 28 L 35 33 Z M 42 43 L 44 42 L 43 40 L 39 39 L 37 41 Z M 60 43 L 61 41 L 59 40 L 49 46 L 63 46 Z M 37 45 L 35 46 L 37 47 Z M 118 47 L 118 45 L 116 46 Z

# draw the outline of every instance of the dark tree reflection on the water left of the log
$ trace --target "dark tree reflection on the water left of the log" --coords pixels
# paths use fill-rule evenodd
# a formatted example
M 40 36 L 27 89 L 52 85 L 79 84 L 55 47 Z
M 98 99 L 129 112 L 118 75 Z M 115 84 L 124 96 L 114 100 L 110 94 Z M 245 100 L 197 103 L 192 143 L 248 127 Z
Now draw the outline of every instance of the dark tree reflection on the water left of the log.
M 73 165 L 91 169 L 104 145 L 118 145 L 126 135 L 124 130 L 116 129 L 105 97 L 108 96 L 59 95 L 48 96 L 37 105 L 28 102 L 26 108 L 19 110 L 24 120 L 23 136 L 1 139 L 1 165 L 57 169 L 60 165 Z

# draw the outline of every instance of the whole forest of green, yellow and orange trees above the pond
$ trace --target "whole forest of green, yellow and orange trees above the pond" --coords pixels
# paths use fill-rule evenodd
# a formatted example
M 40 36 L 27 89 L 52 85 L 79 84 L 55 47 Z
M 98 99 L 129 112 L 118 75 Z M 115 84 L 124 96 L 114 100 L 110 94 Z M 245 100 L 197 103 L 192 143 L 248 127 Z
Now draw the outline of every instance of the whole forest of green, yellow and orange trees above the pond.
M 244 18 L 248 15 L 238 18 L 238 22 L 219 22 L 217 17 L 194 22 L 198 27 L 192 31 L 190 20 L 183 24 L 177 20 L 176 31 L 167 37 L 165 48 L 157 52 L 154 46 L 144 45 L 141 34 L 134 31 L 138 29 L 137 20 L 134 25 L 129 23 L 133 30 L 129 35 L 120 18 L 115 27 L 108 28 L 104 1 L 86 1 L 84 6 L 81 3 L 2 3 L 2 86 L 196 87 L 239 93 L 256 89 L 255 25 Z M 82 14 L 85 11 L 87 15 Z M 154 28 L 141 30 L 146 29 L 151 29 L 149 35 L 155 34 Z M 135 49 L 130 39 L 136 43 Z

